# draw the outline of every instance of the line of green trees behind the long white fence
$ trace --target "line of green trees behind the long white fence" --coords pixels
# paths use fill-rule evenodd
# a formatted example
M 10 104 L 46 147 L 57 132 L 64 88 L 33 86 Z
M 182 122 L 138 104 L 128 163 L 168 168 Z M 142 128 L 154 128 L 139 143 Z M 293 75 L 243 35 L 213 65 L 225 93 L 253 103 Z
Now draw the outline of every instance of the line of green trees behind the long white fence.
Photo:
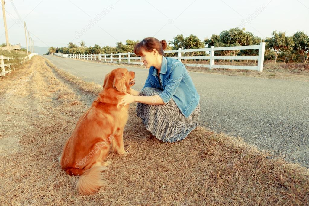
M 110 53 L 133 53 L 135 44 L 139 41 L 126 40 L 125 44 L 117 42 L 115 47 L 101 47 L 95 44 L 93 47 L 86 47 L 85 42 L 79 42 L 79 46 L 69 42 L 68 47 L 54 48 L 50 47 L 48 53 L 70 53 L 70 54 L 110 54 Z M 306 63 L 309 58 L 309 36 L 304 32 L 296 32 L 293 36 L 286 36 L 285 32 L 274 31 L 271 37 L 261 39 L 254 36 L 251 32 L 245 32 L 244 29 L 232 28 L 224 30 L 220 34 L 213 34 L 209 39 L 201 41 L 197 36 L 191 34 L 184 37 L 182 34 L 174 37 L 172 41 L 168 41 L 166 50 L 194 49 L 194 48 L 210 48 L 229 47 L 229 46 L 247 46 L 257 45 L 265 42 L 265 60 L 273 60 L 276 62 L 303 62 Z M 258 49 L 251 50 L 227 50 L 215 51 L 215 56 L 243 56 L 258 55 Z M 176 56 L 177 53 L 166 53 L 165 56 Z M 184 56 L 205 56 L 205 52 L 184 53 Z M 221 60 L 225 61 L 225 60 Z

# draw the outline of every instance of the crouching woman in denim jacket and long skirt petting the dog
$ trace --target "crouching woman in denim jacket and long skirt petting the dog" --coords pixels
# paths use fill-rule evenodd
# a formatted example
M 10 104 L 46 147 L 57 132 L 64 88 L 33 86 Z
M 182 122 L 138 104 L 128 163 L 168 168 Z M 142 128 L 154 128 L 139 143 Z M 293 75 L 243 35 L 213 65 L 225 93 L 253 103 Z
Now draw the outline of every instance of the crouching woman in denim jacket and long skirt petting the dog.
M 200 115 L 200 96 L 181 61 L 164 57 L 167 47 L 148 37 L 134 47 L 149 68 L 148 78 L 141 91 L 132 90 L 119 104 L 138 102 L 136 107 L 146 128 L 163 142 L 183 140 L 197 127 Z

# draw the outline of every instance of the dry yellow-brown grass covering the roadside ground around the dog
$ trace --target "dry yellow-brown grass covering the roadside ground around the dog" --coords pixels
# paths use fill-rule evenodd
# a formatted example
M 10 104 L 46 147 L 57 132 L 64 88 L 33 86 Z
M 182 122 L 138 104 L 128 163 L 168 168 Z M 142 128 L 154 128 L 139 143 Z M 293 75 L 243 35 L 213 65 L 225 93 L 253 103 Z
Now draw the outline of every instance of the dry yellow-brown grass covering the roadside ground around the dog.
M 39 56 L 32 61 L 28 68 L 0 80 L 1 89 L 9 88 L 35 73 L 0 102 L 0 143 L 12 137 L 19 142 L 17 151 L 10 152 L 7 145 L 2 152 L 1 205 L 308 204 L 306 168 L 281 158 L 267 159 L 269 153 L 241 138 L 200 127 L 183 141 L 163 143 L 136 116 L 136 104 L 130 106 L 124 132 L 125 149 L 131 153 L 110 154 L 106 186 L 96 195 L 79 195 L 74 190 L 77 177 L 66 175 L 56 159 L 87 106 L 72 86 L 55 76 L 55 67 Z M 99 89 L 60 74 L 79 82 L 79 88 L 86 86 L 93 96 Z

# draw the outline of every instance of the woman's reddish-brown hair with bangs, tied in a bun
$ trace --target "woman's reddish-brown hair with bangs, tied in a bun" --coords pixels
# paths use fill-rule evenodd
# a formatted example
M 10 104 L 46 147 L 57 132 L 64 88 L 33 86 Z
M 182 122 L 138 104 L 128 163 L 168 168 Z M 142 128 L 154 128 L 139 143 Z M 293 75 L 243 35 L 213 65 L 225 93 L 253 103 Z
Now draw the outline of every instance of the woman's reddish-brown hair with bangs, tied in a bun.
M 147 51 L 151 52 L 153 49 L 156 49 L 159 54 L 162 56 L 164 55 L 164 49 L 166 49 L 167 43 L 165 40 L 159 41 L 154 37 L 147 37 L 143 39 L 141 42 L 135 44 L 134 46 L 134 53 L 138 56 L 142 56 L 142 48 Z

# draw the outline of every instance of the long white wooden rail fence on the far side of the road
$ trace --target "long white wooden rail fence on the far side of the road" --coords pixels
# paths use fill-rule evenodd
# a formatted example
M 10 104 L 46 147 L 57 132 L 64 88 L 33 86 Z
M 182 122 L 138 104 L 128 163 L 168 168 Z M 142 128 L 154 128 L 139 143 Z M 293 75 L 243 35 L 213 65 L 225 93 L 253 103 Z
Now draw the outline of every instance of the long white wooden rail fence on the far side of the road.
M 259 56 L 214 56 L 215 51 L 224 51 L 224 50 L 246 50 L 246 49 L 259 49 Z M 205 56 L 203 57 L 183 57 L 182 53 L 187 52 L 205 52 Z M 179 59 L 200 59 L 200 60 L 209 60 L 209 65 L 206 64 L 185 64 L 186 66 L 192 67 L 206 67 L 209 69 L 213 68 L 222 68 L 222 69 L 248 69 L 248 70 L 257 70 L 263 71 L 263 63 L 264 63 L 264 53 L 265 53 L 265 42 L 261 42 L 260 45 L 251 45 L 251 46 L 235 46 L 235 47 L 214 47 L 210 48 L 197 48 L 197 49 L 181 49 L 178 50 L 167 50 L 164 53 L 178 53 L 178 57 L 171 57 Z M 64 54 L 64 53 L 55 53 L 56 56 L 64 57 L 64 58 L 75 58 L 75 59 L 84 59 L 84 60 L 98 60 L 104 62 L 113 62 L 113 63 L 125 63 L 125 64 L 140 64 L 141 57 L 136 57 L 134 53 L 118 53 L 118 54 Z M 134 55 L 135 57 L 131 57 Z M 208 56 L 206 56 L 208 55 Z M 124 57 L 125 56 L 125 57 Z M 257 66 L 240 66 L 240 65 L 215 65 L 214 60 L 258 60 Z M 118 60 L 118 61 L 114 61 Z M 127 61 L 121 61 L 127 60 Z M 139 62 L 134 62 L 131 60 L 139 60 Z

